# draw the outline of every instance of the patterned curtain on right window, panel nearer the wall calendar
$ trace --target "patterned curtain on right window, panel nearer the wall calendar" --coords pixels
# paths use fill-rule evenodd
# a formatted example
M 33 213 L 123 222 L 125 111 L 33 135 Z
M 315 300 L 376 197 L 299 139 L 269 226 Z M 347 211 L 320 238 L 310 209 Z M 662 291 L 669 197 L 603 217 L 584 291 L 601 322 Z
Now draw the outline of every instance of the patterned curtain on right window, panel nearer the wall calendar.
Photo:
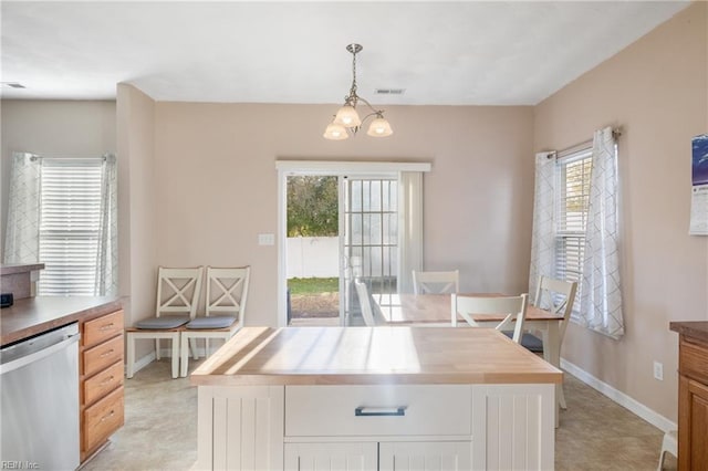
M 585 228 L 581 322 L 620 338 L 624 335 L 620 283 L 618 181 L 615 138 L 611 127 L 593 136 L 593 169 Z

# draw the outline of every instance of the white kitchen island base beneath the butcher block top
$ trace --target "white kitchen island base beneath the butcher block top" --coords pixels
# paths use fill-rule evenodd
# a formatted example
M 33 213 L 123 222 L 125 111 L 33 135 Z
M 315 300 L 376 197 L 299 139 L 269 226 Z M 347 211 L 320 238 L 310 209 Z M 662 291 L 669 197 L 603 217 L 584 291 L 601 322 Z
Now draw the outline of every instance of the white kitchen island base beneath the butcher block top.
M 199 386 L 195 469 L 552 470 L 555 387 Z

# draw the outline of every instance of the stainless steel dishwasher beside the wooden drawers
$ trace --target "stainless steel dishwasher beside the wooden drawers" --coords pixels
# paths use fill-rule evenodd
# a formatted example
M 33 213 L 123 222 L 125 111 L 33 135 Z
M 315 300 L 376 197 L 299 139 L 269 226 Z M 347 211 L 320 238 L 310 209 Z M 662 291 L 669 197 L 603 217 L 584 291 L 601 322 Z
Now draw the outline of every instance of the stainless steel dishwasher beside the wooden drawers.
M 0 465 L 79 467 L 76 323 L 0 349 Z

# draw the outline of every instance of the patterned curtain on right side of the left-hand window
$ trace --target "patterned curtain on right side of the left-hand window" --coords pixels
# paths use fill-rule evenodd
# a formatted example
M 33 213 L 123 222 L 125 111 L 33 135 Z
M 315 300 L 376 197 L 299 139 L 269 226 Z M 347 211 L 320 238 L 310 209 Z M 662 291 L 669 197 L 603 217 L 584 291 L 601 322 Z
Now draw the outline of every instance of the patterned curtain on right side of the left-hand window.
M 115 156 L 107 155 L 101 169 L 101 233 L 95 287 L 98 296 L 114 295 L 118 291 L 117 181 Z

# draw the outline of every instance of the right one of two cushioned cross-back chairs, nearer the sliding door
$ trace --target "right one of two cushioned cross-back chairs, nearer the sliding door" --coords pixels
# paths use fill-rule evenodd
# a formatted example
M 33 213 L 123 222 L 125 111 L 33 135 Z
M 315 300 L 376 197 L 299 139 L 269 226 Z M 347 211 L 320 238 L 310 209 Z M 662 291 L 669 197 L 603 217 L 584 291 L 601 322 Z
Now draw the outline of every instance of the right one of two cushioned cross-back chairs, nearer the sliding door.
M 194 358 L 199 359 L 198 338 L 205 339 L 205 355 L 209 356 L 209 339 L 226 342 L 243 326 L 250 274 L 250 266 L 207 266 L 205 315 L 195 317 L 181 331 L 180 376 L 187 376 L 190 349 Z

